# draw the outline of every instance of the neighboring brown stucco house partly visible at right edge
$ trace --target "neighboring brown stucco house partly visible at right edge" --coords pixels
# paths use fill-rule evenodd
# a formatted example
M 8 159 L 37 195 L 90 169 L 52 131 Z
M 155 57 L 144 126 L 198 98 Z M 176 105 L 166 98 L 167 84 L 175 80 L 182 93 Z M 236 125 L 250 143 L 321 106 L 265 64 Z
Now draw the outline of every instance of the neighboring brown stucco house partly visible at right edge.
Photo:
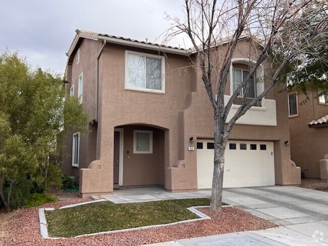
M 291 159 L 305 177 L 319 178 L 319 160 L 328 154 L 328 96 L 310 91 L 308 97 L 288 94 Z

